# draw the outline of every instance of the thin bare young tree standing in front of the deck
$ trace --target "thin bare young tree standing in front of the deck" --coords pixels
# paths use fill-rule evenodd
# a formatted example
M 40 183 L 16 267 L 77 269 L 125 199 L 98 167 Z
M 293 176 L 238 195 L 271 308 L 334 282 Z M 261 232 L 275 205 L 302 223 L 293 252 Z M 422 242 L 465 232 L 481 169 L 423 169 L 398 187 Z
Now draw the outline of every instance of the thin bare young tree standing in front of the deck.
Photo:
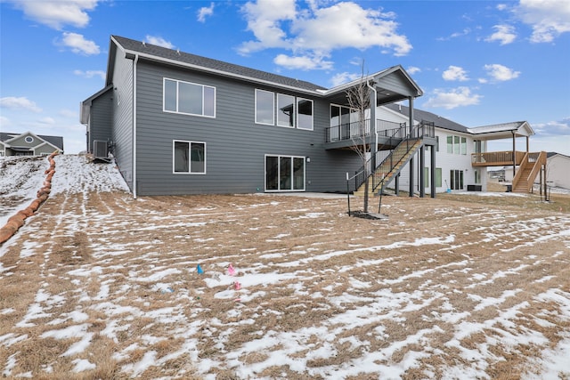
M 349 125 L 350 138 L 353 141 L 352 150 L 354 150 L 362 160 L 364 168 L 364 213 L 368 213 L 368 190 L 370 170 L 368 165 L 368 156 L 371 151 L 370 143 L 367 143 L 367 137 L 371 134 L 370 124 L 366 122 L 366 109 L 371 106 L 371 89 L 368 86 L 368 79 L 364 77 L 364 62 L 362 61 L 362 75 L 357 85 L 346 90 L 346 100 L 351 109 L 351 116 L 357 117 L 356 121 L 352 121 Z

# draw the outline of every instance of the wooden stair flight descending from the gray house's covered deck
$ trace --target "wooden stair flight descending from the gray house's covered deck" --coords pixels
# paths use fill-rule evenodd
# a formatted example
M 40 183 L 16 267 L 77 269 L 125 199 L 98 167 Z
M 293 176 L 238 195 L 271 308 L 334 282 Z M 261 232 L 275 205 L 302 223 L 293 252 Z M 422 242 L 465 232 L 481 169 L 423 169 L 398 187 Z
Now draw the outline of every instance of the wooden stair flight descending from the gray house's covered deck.
M 385 158 L 379 166 L 376 167 L 374 173 L 371 174 L 369 182 L 369 195 L 376 196 L 382 190 L 382 187 L 387 185 L 395 179 L 403 166 L 405 166 L 414 154 L 422 146 L 421 139 L 411 139 L 402 141 L 394 150 Z M 363 182 L 358 190 L 354 191 L 355 196 L 364 196 L 364 189 L 366 183 Z

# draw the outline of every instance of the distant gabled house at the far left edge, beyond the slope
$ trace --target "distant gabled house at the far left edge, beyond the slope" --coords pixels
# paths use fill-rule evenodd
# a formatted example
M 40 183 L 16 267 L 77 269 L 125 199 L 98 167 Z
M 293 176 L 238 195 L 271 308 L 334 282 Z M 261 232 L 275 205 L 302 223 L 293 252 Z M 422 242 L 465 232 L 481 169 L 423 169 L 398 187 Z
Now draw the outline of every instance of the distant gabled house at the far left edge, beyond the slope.
M 0 132 L 0 156 L 44 156 L 63 153 L 63 137 L 31 132 Z

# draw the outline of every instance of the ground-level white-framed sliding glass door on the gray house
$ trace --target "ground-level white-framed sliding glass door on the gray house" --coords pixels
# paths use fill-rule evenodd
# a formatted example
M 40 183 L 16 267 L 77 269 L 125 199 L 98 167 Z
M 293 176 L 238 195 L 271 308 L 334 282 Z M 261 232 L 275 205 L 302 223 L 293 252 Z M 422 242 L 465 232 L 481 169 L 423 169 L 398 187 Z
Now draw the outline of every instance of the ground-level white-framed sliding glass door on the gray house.
M 305 158 L 265 156 L 265 191 L 305 191 Z

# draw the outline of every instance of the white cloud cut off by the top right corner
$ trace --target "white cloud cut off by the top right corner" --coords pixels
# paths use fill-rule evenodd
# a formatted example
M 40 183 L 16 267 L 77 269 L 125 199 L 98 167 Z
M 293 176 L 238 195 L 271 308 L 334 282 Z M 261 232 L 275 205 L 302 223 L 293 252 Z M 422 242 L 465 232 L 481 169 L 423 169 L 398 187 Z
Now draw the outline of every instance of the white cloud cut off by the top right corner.
M 520 20 L 533 28 L 533 43 L 552 42 L 570 32 L 570 2 L 567 0 L 520 0 L 515 9 Z

